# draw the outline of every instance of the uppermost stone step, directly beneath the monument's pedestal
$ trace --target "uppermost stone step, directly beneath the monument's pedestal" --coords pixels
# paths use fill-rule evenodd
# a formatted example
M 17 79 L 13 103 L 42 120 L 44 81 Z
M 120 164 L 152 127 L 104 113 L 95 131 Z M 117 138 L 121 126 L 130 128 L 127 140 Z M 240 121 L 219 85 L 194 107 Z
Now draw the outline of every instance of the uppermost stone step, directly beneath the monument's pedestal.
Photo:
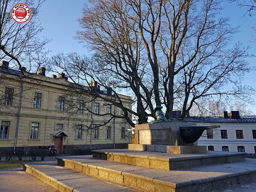
M 92 151 L 94 158 L 162 170 L 176 170 L 205 165 L 240 162 L 245 160 L 245 154 L 246 153 L 241 152 L 223 151 L 209 151 L 200 154 L 167 154 L 127 149 Z

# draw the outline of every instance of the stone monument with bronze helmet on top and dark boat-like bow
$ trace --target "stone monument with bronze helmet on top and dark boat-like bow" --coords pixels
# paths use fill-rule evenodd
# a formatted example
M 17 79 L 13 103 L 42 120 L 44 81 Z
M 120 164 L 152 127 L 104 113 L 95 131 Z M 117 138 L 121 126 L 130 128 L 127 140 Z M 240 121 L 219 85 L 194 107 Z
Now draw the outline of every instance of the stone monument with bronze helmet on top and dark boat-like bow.
M 167 120 L 161 109 L 161 106 L 155 108 L 155 121 L 135 125 L 135 144 L 129 144 L 129 150 L 173 154 L 206 152 L 206 146 L 198 146 L 197 140 L 204 130 L 220 126 L 196 126 L 175 118 Z

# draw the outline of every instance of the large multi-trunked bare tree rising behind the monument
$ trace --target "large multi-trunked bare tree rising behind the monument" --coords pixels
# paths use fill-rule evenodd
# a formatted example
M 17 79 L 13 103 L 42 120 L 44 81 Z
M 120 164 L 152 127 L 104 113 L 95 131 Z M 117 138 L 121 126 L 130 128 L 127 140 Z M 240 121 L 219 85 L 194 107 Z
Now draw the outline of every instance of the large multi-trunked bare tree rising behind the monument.
M 242 77 L 252 69 L 244 60 L 250 54 L 239 43 L 229 45 L 238 28 L 220 16 L 219 3 L 90 0 L 76 38 L 94 51 L 93 57 L 75 65 L 54 63 L 75 84 L 88 86 L 96 80 L 132 96 L 134 110 L 113 104 L 138 118 L 138 123 L 154 116 L 155 105 L 164 105 L 166 117 L 171 118 L 174 107 L 181 106 L 186 114 L 200 98 L 247 99 L 253 90 L 242 86 Z M 79 58 L 56 57 L 52 59 Z M 227 85 L 234 88 L 225 90 Z

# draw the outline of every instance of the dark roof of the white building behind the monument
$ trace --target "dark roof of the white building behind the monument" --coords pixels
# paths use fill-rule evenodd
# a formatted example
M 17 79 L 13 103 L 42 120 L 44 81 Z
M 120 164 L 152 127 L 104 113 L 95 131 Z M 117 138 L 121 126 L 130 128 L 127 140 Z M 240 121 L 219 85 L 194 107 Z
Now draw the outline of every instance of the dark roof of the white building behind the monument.
M 256 123 L 256 116 L 242 116 L 239 119 L 223 117 L 185 117 L 184 122 L 207 122 L 207 123 Z

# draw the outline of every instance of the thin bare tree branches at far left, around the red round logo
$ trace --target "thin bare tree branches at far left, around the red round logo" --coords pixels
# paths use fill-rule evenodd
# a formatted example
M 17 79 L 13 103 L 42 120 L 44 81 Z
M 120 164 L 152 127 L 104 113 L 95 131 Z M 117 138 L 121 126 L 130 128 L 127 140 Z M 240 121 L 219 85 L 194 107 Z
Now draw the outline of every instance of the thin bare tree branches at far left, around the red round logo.
M 25 0 L 31 8 L 31 17 L 23 24 L 12 20 L 10 10 L 17 2 L 15 0 L 0 1 L 0 60 L 8 60 L 15 69 L 27 67 L 35 71 L 38 62 L 36 56 L 45 55 L 44 45 L 50 40 L 40 37 L 43 28 L 37 18 L 44 0 Z

